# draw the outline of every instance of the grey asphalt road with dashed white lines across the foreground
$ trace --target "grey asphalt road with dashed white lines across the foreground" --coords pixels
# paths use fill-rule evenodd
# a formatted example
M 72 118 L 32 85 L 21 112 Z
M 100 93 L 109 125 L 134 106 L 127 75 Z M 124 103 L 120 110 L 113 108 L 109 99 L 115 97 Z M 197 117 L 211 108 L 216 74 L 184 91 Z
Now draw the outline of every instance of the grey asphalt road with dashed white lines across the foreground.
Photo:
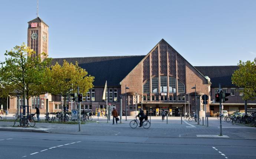
M 0 131 L 0 159 L 256 158 L 247 139 L 148 138 Z

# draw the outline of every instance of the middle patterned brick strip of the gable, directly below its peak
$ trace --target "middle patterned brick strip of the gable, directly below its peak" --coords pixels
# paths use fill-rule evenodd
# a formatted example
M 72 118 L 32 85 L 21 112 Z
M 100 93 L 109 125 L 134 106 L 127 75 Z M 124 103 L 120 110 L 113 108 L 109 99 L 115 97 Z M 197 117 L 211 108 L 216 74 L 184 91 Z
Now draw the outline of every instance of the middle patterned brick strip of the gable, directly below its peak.
M 166 43 L 160 43 L 160 74 L 167 74 L 167 50 Z

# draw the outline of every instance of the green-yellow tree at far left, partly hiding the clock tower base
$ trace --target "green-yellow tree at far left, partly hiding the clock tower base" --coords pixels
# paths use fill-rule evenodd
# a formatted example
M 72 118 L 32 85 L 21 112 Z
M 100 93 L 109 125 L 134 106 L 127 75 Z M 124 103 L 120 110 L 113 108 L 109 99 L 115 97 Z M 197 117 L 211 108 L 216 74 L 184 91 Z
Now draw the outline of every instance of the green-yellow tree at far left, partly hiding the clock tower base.
M 46 57 L 45 53 L 42 54 Z M 24 43 L 21 46 L 16 45 L 4 55 L 5 62 L 1 62 L 0 68 L 1 97 L 15 96 L 18 92 L 23 95 L 25 105 L 25 99 L 29 104 L 30 97 L 45 93 L 41 86 L 51 58 L 42 60 L 40 55 L 36 56 L 36 52 Z

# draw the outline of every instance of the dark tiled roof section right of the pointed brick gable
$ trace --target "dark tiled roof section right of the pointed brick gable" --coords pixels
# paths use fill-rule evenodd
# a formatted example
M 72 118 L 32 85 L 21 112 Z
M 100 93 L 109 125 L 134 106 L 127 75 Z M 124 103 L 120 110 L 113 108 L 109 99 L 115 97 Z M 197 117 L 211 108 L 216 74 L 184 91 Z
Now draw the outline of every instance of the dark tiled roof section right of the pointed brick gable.
M 231 77 L 238 66 L 194 66 L 201 74 L 208 76 L 211 80 L 211 87 L 235 87 Z

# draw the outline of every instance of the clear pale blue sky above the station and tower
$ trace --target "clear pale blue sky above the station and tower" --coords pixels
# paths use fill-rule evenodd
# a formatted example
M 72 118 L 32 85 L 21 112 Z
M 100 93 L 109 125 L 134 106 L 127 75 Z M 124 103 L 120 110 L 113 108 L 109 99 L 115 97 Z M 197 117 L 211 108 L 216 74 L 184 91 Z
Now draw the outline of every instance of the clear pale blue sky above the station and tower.
M 194 66 L 256 57 L 255 0 L 39 0 L 49 56 L 146 55 L 162 38 Z M 0 6 L 0 61 L 27 43 L 36 0 Z

